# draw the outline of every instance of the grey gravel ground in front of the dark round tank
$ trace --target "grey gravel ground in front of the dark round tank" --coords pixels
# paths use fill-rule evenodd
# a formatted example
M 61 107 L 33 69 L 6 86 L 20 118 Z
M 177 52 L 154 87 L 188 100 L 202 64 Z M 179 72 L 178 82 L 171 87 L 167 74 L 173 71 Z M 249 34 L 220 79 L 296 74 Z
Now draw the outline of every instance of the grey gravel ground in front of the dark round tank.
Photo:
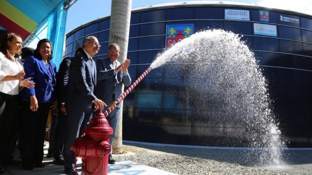
M 255 167 L 246 151 L 124 143 L 117 161 L 131 160 L 178 175 L 312 175 L 312 150 L 285 150 L 284 165 Z M 250 158 L 250 157 L 249 157 Z

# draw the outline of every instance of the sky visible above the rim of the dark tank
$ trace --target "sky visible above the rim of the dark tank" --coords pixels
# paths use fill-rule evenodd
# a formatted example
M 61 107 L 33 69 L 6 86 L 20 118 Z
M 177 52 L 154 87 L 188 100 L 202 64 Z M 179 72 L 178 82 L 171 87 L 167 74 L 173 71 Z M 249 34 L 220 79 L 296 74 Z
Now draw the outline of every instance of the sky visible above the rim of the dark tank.
M 185 2 L 195 0 L 132 0 L 132 9 L 139 7 L 168 3 Z M 295 12 L 312 15 L 312 0 L 227 0 L 260 6 L 292 10 Z M 220 0 L 217 0 L 220 2 Z M 67 13 L 65 34 L 77 27 L 98 18 L 111 15 L 111 0 L 78 0 Z

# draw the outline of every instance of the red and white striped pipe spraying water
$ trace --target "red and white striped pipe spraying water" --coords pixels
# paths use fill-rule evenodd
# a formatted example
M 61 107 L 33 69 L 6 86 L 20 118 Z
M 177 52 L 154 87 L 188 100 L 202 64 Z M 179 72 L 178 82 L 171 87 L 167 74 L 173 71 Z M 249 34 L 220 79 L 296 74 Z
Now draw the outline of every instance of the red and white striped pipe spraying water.
M 140 83 L 140 81 L 151 71 L 151 68 L 147 68 L 138 78 L 135 82 L 133 82 L 132 85 L 130 85 L 129 88 L 127 88 L 121 95 L 120 97 L 117 98 L 117 101 L 113 102 L 112 105 L 109 106 L 109 108 L 104 112 L 104 116 L 105 118 L 108 116 L 108 114 L 110 114 L 112 112 L 112 110 L 114 110 L 116 108 L 117 105 L 119 105 L 119 103 L 126 98 L 126 96 L 131 92 L 132 89 L 134 89 L 137 84 Z

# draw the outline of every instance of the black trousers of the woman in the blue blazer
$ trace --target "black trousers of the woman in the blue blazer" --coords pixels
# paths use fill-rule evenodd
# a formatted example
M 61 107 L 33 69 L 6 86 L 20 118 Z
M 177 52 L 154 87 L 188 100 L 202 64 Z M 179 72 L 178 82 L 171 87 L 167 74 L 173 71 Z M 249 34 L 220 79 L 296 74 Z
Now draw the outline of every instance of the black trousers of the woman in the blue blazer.
M 30 102 L 21 102 L 20 156 L 22 165 L 42 163 L 46 123 L 51 103 L 40 103 L 38 110 L 30 110 Z

